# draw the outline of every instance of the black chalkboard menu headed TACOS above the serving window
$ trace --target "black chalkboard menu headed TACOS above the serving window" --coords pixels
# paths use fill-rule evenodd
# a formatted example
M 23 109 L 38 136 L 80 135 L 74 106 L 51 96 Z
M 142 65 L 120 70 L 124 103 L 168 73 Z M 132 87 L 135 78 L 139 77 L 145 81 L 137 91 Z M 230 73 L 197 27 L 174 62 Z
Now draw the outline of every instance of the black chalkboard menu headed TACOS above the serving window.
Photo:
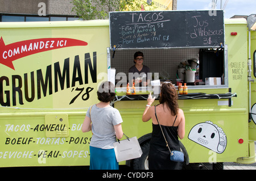
M 110 48 L 219 47 L 222 10 L 109 12 Z

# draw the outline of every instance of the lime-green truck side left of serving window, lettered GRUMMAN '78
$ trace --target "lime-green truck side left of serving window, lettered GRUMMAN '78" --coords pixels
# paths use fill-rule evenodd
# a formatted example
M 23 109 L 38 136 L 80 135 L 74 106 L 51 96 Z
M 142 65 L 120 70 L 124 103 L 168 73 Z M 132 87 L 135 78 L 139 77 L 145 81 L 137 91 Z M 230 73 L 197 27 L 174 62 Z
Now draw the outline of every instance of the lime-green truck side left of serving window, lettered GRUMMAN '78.
M 0 167 L 89 165 L 81 124 L 107 79 L 108 21 L 2 23 L 0 36 Z

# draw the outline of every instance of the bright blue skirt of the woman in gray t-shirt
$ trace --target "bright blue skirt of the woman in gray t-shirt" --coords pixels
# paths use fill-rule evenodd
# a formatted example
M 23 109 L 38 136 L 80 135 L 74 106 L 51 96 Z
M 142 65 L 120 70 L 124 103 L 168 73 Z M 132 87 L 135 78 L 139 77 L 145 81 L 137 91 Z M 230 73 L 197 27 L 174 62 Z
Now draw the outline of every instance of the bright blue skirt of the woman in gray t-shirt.
M 90 146 L 90 170 L 118 170 L 114 149 Z

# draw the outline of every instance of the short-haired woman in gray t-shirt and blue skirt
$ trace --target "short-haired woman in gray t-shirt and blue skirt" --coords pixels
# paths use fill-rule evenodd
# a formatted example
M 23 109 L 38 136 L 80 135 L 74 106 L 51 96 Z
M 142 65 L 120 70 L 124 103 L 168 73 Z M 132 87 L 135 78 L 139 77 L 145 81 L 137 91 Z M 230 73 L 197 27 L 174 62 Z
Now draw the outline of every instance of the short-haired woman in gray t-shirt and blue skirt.
M 119 111 L 110 106 L 115 96 L 113 83 L 102 83 L 97 95 L 100 102 L 91 106 L 91 110 L 88 109 L 82 124 L 82 132 L 93 133 L 90 141 L 90 170 L 117 170 L 113 143 L 116 138 L 122 138 L 123 131 Z

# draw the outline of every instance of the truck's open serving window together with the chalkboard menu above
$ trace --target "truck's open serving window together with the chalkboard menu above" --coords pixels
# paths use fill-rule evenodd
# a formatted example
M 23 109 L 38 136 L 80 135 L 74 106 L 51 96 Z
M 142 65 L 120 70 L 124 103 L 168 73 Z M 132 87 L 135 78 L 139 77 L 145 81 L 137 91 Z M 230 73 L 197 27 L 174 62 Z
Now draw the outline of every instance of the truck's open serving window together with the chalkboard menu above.
M 140 51 L 153 80 L 196 89 L 228 87 L 222 10 L 110 12 L 109 17 L 108 67 L 116 74 L 128 75 Z

